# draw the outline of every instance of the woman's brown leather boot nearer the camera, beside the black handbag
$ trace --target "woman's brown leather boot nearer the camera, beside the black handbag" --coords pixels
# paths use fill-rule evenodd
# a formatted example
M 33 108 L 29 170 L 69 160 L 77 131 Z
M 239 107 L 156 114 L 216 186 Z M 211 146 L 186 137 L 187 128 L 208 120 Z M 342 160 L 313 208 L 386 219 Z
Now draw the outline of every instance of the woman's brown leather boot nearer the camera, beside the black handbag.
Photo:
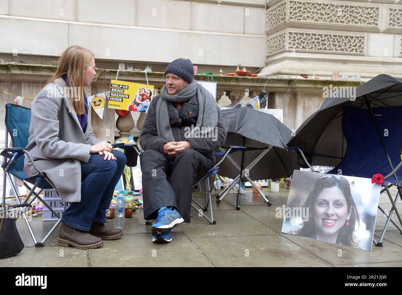
M 77 230 L 66 224 L 62 224 L 59 230 L 59 246 L 73 246 L 77 249 L 88 250 L 103 246 L 102 239 L 88 234 L 83 230 Z

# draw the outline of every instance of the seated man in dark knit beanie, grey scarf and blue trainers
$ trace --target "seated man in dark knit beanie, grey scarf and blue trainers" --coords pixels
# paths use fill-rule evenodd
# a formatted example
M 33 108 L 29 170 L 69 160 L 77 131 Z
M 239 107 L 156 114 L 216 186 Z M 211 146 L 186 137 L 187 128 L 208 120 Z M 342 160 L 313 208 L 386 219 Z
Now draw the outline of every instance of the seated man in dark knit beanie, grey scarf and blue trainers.
M 170 242 L 171 229 L 190 222 L 193 185 L 226 140 L 215 99 L 193 74 L 189 59 L 166 67 L 166 85 L 152 100 L 139 139 L 144 219 L 156 219 L 151 227 L 156 243 Z

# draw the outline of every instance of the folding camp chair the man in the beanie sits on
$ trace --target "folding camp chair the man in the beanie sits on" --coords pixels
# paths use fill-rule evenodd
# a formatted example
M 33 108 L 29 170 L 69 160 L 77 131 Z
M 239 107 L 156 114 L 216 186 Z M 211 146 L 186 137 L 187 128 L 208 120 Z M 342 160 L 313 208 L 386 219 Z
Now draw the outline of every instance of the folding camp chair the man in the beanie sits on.
M 232 154 L 236 151 L 244 151 L 246 149 L 245 146 L 229 146 L 229 148 L 226 150 L 226 152 L 218 152 L 215 153 L 215 157 L 216 158 L 220 158 L 222 157 L 222 159 L 216 163 L 215 165 L 213 165 L 213 167 L 209 168 L 208 171 L 202 175 L 201 177 L 199 177 L 199 179 L 197 179 L 195 181 L 195 184 L 193 185 L 193 187 L 196 187 L 199 183 L 201 183 L 203 180 L 205 180 L 205 205 L 201 205 L 199 202 L 197 202 L 197 200 L 195 200 L 193 197 L 191 198 L 191 207 L 193 207 L 195 210 L 198 211 L 199 216 L 205 218 L 210 224 L 216 224 L 216 220 L 213 220 L 213 212 L 212 212 L 212 203 L 211 203 L 211 192 L 213 189 L 213 186 L 209 184 L 209 176 L 212 176 L 212 180 L 215 178 L 215 175 L 218 173 L 219 171 L 219 165 L 226 159 L 226 157 L 229 154 Z M 195 204 L 194 204 L 195 203 Z M 198 208 L 197 208 L 198 206 Z M 208 211 L 208 206 L 209 206 L 209 210 L 211 211 L 211 216 L 208 217 L 207 215 L 205 215 L 205 211 Z M 146 225 L 150 225 L 152 224 L 152 222 L 154 222 L 154 220 L 147 220 L 145 222 Z

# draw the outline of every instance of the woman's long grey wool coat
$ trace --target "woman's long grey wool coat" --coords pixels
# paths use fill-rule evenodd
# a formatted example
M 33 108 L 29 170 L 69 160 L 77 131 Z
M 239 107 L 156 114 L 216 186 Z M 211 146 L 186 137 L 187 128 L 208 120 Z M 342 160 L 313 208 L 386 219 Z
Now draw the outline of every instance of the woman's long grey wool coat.
M 81 163 L 88 163 L 90 146 L 102 140 L 92 133 L 90 117 L 82 131 L 77 114 L 70 109 L 62 78 L 46 85 L 31 104 L 27 150 L 37 167 L 53 182 L 64 201 L 81 201 Z M 88 112 L 90 109 L 88 109 Z M 27 177 L 38 174 L 28 157 Z M 42 180 L 44 181 L 44 180 Z

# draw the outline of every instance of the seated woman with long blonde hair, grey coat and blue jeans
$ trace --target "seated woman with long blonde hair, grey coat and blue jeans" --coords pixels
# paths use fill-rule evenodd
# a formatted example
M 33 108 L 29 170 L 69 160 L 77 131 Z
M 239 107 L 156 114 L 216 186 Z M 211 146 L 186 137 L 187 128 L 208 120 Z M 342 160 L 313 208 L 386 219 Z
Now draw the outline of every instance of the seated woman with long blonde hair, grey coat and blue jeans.
M 92 133 L 84 87 L 96 75 L 94 68 L 89 50 L 71 46 L 64 51 L 56 73 L 31 104 L 27 145 L 37 167 L 71 203 L 62 216 L 58 244 L 79 249 L 123 236 L 105 223 L 127 159 Z M 37 175 L 27 157 L 24 171 L 28 177 Z

